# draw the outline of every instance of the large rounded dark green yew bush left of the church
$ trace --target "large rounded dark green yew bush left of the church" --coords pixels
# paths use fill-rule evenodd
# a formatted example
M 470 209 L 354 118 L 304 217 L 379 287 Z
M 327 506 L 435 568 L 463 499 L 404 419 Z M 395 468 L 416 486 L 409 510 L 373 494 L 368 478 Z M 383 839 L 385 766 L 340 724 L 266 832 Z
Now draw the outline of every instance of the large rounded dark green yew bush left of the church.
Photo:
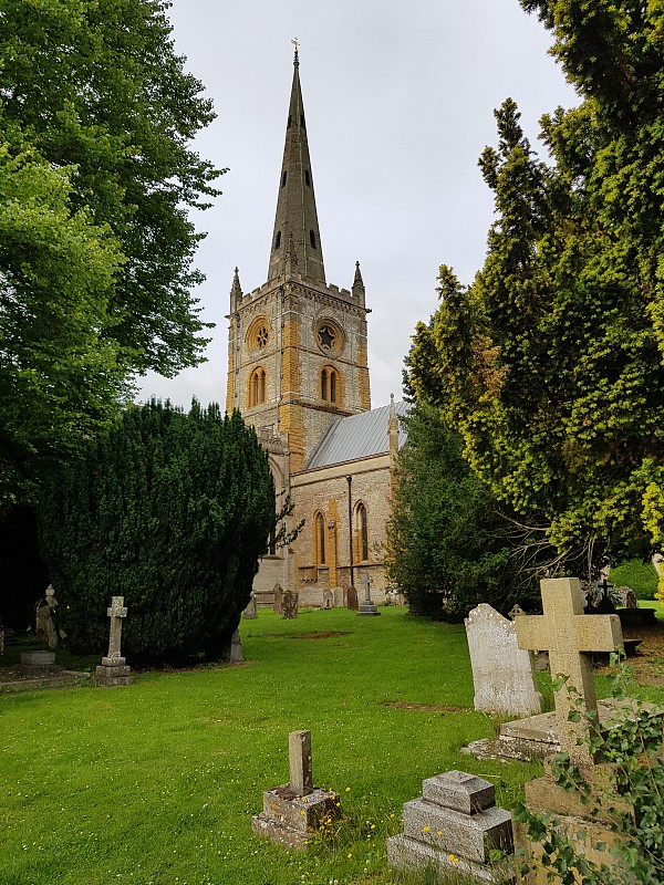
M 153 400 L 52 477 L 39 517 L 73 652 L 105 652 L 118 595 L 132 664 L 216 658 L 274 529 L 274 487 L 238 413 Z

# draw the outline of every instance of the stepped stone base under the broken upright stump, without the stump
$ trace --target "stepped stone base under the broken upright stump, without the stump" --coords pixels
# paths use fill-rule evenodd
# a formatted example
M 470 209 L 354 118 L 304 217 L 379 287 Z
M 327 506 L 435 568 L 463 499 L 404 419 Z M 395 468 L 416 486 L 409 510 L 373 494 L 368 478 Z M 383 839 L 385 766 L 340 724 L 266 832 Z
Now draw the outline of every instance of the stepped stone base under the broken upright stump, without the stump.
M 324 818 L 340 814 L 339 793 L 314 787 L 308 795 L 298 795 L 286 783 L 264 791 L 263 810 L 251 818 L 251 830 L 277 845 L 303 848 Z

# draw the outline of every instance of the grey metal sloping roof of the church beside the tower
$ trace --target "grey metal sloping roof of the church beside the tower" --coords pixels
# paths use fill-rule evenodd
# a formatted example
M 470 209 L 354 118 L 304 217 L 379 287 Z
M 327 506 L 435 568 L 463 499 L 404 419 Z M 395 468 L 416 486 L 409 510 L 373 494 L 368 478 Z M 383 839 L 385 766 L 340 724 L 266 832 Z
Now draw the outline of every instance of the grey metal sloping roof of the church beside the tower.
M 395 403 L 397 418 L 408 412 L 407 403 Z M 330 467 L 333 464 L 370 458 L 390 451 L 390 406 L 373 408 L 360 415 L 338 418 L 313 450 L 307 470 Z M 398 447 L 406 441 L 406 431 L 400 421 Z

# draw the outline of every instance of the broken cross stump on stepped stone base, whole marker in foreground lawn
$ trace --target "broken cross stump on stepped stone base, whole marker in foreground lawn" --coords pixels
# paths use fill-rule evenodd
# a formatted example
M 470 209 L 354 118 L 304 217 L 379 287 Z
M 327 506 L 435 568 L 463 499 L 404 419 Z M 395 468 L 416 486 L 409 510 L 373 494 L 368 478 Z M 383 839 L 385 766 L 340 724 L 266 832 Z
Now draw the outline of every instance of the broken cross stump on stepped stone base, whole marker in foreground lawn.
M 313 785 L 311 732 L 288 736 L 290 780 L 263 793 L 263 810 L 251 818 L 251 830 L 288 848 L 303 848 L 324 821 L 341 814 L 339 793 Z

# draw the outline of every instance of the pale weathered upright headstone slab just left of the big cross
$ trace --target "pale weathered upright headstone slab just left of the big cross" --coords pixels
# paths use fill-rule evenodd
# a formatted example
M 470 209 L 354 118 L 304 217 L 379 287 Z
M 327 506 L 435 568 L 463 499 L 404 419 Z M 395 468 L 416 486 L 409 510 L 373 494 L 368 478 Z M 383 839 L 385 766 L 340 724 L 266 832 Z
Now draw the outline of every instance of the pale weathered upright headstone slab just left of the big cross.
M 535 685 L 530 653 L 518 647 L 513 622 L 486 603 L 469 612 L 465 621 L 475 709 L 530 716 L 542 710 Z

